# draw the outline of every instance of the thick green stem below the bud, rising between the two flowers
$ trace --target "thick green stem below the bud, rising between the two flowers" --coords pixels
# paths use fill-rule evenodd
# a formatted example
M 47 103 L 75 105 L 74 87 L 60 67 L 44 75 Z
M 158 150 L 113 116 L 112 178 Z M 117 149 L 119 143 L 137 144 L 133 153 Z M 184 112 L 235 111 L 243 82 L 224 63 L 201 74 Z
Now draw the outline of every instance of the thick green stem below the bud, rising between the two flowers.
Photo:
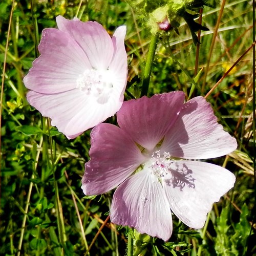
M 150 84 L 150 76 L 152 70 L 152 63 L 155 57 L 156 48 L 158 42 L 158 33 L 156 33 L 150 42 L 150 49 L 148 50 L 147 59 L 146 59 L 146 66 L 144 70 L 143 80 L 142 80 L 142 88 L 140 97 L 147 95 L 148 85 Z

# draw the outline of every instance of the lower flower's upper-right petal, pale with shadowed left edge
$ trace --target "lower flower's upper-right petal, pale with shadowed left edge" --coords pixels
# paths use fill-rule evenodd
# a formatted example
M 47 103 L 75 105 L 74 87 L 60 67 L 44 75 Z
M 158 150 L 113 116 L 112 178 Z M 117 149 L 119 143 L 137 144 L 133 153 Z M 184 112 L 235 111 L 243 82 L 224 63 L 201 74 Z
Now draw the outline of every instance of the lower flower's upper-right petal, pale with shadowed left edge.
M 203 97 L 184 104 L 161 145 L 162 152 L 185 159 L 220 157 L 236 148 L 236 139 L 218 124 L 210 104 Z

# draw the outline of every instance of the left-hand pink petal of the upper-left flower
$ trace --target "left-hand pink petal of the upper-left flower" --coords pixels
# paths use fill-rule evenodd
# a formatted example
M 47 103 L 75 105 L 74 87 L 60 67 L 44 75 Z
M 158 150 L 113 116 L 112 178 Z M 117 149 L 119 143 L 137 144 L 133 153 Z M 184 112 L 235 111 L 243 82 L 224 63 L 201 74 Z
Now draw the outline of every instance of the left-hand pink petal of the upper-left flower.
M 50 28 L 42 31 L 40 56 L 24 77 L 25 86 L 39 93 L 58 93 L 76 88 L 76 79 L 92 68 L 86 54 L 69 34 Z

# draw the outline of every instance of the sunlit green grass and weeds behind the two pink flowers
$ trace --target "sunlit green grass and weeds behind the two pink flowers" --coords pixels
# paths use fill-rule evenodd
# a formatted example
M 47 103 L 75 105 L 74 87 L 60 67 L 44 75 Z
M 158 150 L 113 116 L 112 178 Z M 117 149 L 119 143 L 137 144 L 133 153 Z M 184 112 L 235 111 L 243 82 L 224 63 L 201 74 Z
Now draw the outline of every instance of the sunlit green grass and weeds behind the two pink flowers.
M 224 76 L 207 100 L 225 130 L 237 138 L 239 147 L 229 156 L 211 162 L 229 169 L 237 182 L 214 205 L 204 229 L 190 230 L 174 217 L 175 230 L 168 243 L 135 233 L 140 239 L 137 246 L 146 255 L 256 255 L 252 49 L 239 59 L 252 44 L 252 2 L 230 0 L 220 16 L 224 3 L 215 9 L 203 9 L 202 24 L 209 31 L 202 32 L 198 48 L 185 22 L 181 23 L 179 35 L 175 31 L 161 35 L 149 95 L 182 90 L 187 98 L 190 93 L 205 96 Z M 110 33 L 125 24 L 129 61 L 125 98 L 140 95 L 151 35 L 127 3 L 1 1 L 0 62 L 4 83 L 0 254 L 83 255 L 92 245 L 88 254 L 124 255 L 126 228 L 116 227 L 108 219 L 103 224 L 112 193 L 84 198 L 80 189 L 84 163 L 89 160 L 90 131 L 68 140 L 26 101 L 23 77 L 38 55 L 42 29 L 55 27 L 57 15 L 96 20 Z M 218 33 L 213 44 L 215 29 Z M 236 61 L 237 65 L 227 74 Z M 108 121 L 115 122 L 114 118 Z

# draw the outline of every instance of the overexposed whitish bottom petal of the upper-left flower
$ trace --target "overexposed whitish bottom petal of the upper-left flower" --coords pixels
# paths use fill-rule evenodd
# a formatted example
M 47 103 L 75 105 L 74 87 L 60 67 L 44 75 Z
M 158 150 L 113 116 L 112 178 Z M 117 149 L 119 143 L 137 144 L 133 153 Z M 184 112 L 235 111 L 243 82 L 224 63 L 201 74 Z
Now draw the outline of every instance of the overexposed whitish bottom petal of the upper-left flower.
M 50 117 L 52 125 L 70 139 L 114 115 L 122 104 L 120 94 L 113 93 L 108 102 L 102 103 L 79 89 L 58 94 L 30 91 L 27 98 L 42 116 Z

